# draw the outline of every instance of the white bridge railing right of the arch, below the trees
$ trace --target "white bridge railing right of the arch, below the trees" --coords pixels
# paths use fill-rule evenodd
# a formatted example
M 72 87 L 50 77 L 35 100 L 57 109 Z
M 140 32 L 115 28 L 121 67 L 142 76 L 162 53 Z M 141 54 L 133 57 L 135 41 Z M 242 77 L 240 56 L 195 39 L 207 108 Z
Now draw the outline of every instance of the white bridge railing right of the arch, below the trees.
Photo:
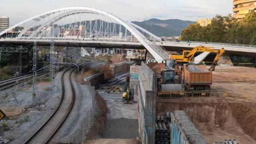
M 249 44 L 228 44 L 228 43 L 219 43 L 219 42 L 193 42 L 193 41 L 179 41 L 179 40 L 164 40 L 161 43 L 184 43 L 184 44 L 208 44 L 208 45 L 219 45 L 219 46 L 236 46 L 236 47 L 246 47 L 246 48 L 256 48 L 256 45 Z

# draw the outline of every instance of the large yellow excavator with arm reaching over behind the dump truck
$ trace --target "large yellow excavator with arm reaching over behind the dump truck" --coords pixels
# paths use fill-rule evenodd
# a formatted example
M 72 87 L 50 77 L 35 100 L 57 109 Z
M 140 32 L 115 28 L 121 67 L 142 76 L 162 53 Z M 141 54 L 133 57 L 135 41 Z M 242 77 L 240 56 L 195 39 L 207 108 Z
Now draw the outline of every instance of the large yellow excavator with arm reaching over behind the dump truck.
M 218 64 L 220 57 L 224 54 L 225 49 L 222 48 L 220 50 L 217 50 L 212 47 L 197 46 L 197 47 L 193 48 L 192 50 L 183 50 L 182 55 L 171 54 L 170 59 L 176 60 L 176 62 L 180 62 L 180 63 L 194 62 L 195 61 L 194 56 L 195 56 L 196 52 L 206 52 L 206 56 L 210 53 L 216 53 L 216 57 L 214 58 L 214 60 L 212 62 L 212 66 L 209 68 L 209 70 L 214 71 L 215 66 Z M 199 62 L 202 62 L 203 59 L 201 59 Z

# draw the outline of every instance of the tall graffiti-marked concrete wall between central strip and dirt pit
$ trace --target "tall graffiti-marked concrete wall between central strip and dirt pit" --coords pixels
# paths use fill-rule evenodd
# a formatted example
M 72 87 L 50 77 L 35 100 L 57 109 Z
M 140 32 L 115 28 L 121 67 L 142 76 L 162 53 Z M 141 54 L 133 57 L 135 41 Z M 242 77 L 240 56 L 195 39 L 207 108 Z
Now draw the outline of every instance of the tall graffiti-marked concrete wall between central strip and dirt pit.
M 142 62 L 138 70 L 138 121 L 142 144 L 154 144 L 155 141 L 155 78 L 154 72 Z

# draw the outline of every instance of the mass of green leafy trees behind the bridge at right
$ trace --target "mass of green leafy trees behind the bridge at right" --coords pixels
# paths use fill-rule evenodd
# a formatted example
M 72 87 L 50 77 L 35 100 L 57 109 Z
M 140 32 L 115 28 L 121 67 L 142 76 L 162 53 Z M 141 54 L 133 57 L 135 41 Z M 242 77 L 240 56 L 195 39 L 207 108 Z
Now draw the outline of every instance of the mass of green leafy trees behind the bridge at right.
M 250 12 L 238 22 L 231 14 L 216 15 L 212 24 L 202 27 L 190 24 L 180 36 L 181 40 L 202 42 L 223 42 L 236 44 L 256 44 L 256 13 Z

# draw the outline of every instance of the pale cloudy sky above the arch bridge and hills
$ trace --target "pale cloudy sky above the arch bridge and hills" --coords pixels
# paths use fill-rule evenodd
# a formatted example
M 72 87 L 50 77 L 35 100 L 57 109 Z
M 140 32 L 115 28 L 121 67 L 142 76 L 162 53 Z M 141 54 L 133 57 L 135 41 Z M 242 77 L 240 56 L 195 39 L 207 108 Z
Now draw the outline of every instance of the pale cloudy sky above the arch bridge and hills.
M 128 21 L 150 18 L 196 21 L 232 13 L 232 0 L 0 0 L 0 16 L 8 16 L 14 25 L 68 6 L 95 7 Z

